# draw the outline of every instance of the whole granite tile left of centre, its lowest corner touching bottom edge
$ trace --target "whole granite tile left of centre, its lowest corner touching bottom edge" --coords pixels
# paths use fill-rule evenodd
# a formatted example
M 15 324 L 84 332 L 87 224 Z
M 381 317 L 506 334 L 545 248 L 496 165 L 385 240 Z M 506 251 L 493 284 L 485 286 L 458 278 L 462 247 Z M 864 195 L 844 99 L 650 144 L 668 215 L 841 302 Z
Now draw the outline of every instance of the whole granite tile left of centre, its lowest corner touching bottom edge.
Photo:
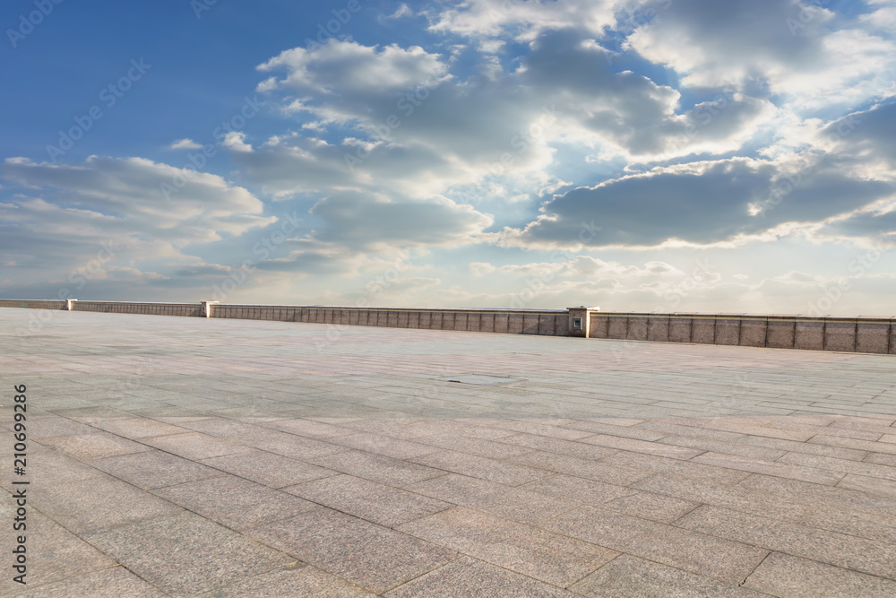
M 382 593 L 456 559 L 443 546 L 325 507 L 248 532 L 332 575 Z

